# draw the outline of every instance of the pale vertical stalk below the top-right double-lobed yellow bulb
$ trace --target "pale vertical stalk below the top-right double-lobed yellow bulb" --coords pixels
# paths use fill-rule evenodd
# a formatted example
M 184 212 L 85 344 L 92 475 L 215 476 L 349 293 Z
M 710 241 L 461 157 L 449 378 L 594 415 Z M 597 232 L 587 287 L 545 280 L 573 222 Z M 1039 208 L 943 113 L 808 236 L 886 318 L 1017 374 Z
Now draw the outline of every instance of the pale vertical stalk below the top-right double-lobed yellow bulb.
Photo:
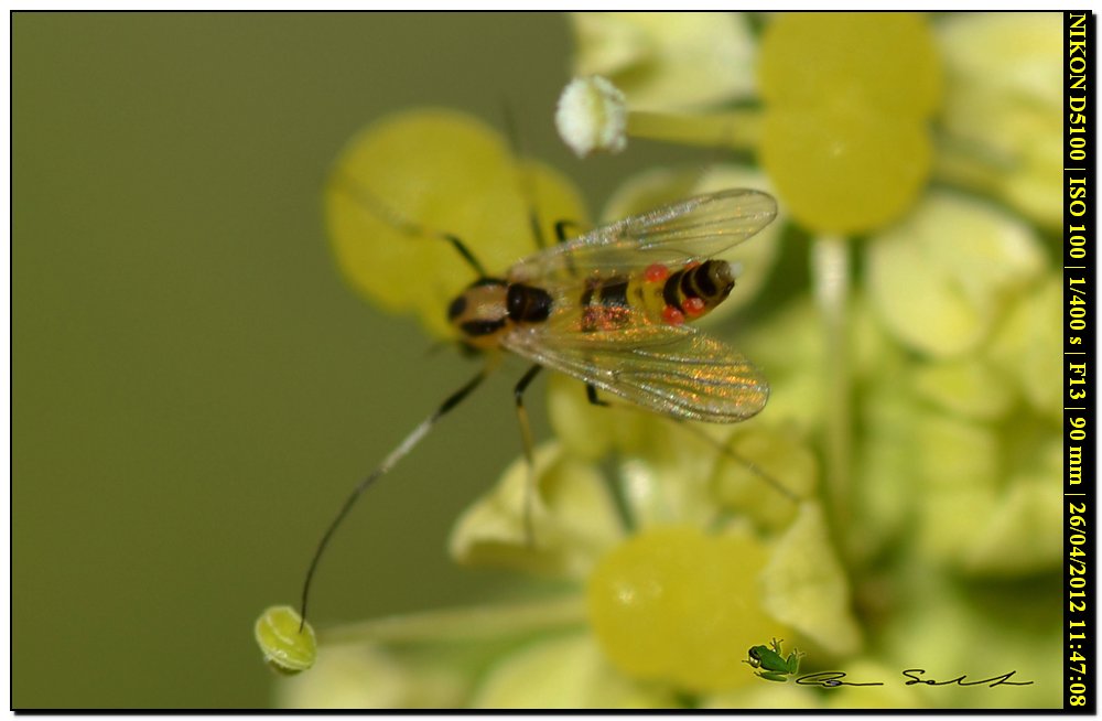
M 853 408 L 849 368 L 850 246 L 845 238 L 815 238 L 811 256 L 815 301 L 822 319 L 825 363 L 827 508 L 840 552 L 849 556 Z

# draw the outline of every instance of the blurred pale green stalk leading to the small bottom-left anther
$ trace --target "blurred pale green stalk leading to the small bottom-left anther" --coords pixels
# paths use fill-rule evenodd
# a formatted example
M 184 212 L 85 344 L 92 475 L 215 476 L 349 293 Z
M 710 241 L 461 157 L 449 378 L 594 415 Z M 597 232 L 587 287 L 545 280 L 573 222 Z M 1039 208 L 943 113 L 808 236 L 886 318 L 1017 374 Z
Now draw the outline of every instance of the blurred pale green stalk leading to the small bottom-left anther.
M 571 595 L 531 603 L 408 613 L 352 623 L 318 633 L 321 644 L 485 641 L 585 623 L 585 600 Z

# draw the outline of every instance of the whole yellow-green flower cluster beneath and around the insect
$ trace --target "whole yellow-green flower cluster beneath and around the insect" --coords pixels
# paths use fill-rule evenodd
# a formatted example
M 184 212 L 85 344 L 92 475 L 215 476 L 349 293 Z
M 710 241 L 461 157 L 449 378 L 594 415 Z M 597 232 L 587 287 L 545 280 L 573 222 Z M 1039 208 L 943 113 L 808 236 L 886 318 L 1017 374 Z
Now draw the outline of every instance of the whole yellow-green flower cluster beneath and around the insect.
M 450 550 L 554 579 L 555 594 L 323 633 L 283 702 L 1059 704 L 1058 18 L 572 15 L 575 68 L 623 93 L 628 137 L 756 152 L 760 168 L 641 173 L 603 216 L 721 187 L 776 194 L 775 225 L 733 256 L 731 309 L 705 319 L 717 335 L 739 320 L 769 406 L 736 427 L 676 423 L 552 377 L 534 494 L 518 460 Z M 1009 56 L 1012 73 L 991 72 Z M 441 110 L 368 128 L 327 193 L 346 276 L 435 334 L 471 278 L 446 244 L 411 237 L 460 236 L 500 271 L 531 252 L 533 205 L 545 237 L 585 218 L 560 175 Z M 835 265 L 789 282 L 807 276 L 804 247 Z M 378 272 L 399 262 L 428 284 Z M 752 301 L 758 318 L 735 315 Z M 806 652 L 801 672 L 885 685 L 765 681 L 742 661 L 773 637 Z M 915 667 L 1035 682 L 906 686 Z

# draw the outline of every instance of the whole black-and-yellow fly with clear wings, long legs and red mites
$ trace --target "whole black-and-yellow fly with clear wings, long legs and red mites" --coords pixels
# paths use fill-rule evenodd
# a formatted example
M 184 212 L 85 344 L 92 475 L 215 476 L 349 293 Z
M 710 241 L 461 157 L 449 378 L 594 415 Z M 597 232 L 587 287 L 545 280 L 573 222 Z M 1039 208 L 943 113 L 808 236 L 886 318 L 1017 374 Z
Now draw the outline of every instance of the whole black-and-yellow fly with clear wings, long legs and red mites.
M 393 217 L 377 198 L 349 191 L 381 216 Z M 732 423 L 765 407 L 769 387 L 761 374 L 687 322 L 715 309 L 735 287 L 735 269 L 714 256 L 757 234 L 776 213 L 776 201 L 760 191 L 699 195 L 541 249 L 504 277 L 489 276 L 454 236 L 407 222 L 396 225 L 451 243 L 474 270 L 476 280 L 447 308 L 460 343 L 490 356 L 508 351 L 533 364 L 515 389 L 531 471 L 533 443 L 523 392 L 541 368 L 582 380 L 593 403 L 607 405 L 598 397 L 603 391 L 677 420 Z M 491 366 L 487 363 L 447 397 L 349 495 L 306 572 L 303 618 L 317 562 L 355 501 L 466 398 Z

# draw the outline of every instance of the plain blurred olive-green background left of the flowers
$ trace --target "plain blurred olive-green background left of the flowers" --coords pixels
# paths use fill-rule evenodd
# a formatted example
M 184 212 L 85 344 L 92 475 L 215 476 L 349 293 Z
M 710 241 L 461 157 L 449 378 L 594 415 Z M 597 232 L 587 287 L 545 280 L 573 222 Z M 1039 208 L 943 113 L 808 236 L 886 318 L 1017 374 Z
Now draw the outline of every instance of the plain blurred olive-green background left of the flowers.
M 500 127 L 506 104 L 592 207 L 627 161 L 583 174 L 554 138 L 558 15 L 17 13 L 12 28 L 12 704 L 266 706 L 253 618 L 296 601 L 352 485 L 474 367 L 344 284 L 321 216 L 328 163 L 389 111 Z M 515 376 L 356 509 L 315 620 L 506 583 L 454 568 L 444 541 L 519 452 Z

